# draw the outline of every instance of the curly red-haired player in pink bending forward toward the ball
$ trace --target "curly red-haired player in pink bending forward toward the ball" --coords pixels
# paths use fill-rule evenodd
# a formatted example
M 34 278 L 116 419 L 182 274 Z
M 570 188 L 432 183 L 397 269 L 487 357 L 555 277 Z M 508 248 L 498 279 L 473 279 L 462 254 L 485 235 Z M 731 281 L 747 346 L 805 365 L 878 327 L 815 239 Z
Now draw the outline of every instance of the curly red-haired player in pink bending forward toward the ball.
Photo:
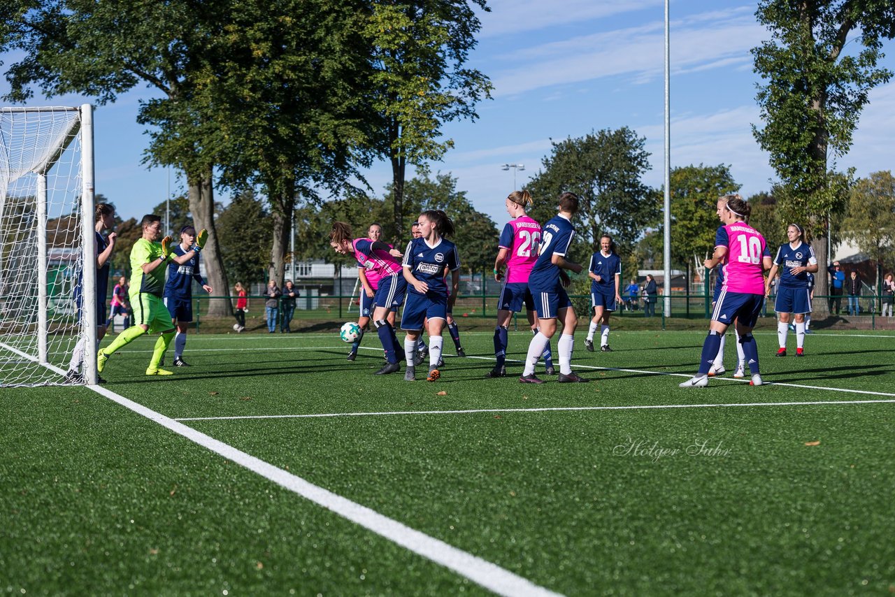
M 382 369 L 376 371 L 377 375 L 386 375 L 400 371 L 401 355 L 398 354 L 398 342 L 395 336 L 395 327 L 388 323 L 388 311 L 397 307 L 404 301 L 407 284 L 401 274 L 401 262 L 396 258 L 403 255 L 397 249 L 391 248 L 381 241 L 372 241 L 368 238 L 355 238 L 352 240 L 351 226 L 345 222 L 333 224 L 329 233 L 329 245 L 343 255 L 352 254 L 358 263 L 365 269 L 375 269 L 379 273 L 379 287 L 373 300 L 376 308 L 373 311 L 373 325 L 379 334 L 379 340 L 386 351 L 388 362 Z

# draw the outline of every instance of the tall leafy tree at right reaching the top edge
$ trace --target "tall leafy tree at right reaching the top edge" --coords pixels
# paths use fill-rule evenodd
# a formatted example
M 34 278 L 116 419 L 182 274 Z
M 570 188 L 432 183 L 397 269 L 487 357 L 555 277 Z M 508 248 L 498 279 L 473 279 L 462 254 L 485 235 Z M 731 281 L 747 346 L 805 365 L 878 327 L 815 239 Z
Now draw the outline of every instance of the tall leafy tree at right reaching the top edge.
M 754 127 L 755 139 L 780 176 L 775 194 L 783 219 L 804 222 L 823 255 L 827 223 L 848 201 L 851 175 L 836 172 L 836 158 L 851 147 L 869 91 L 891 77 L 877 63 L 882 39 L 895 36 L 895 4 L 763 0 L 756 16 L 771 39 L 752 50 L 764 81 L 757 96 L 763 128 Z M 817 294 L 828 294 L 827 283 L 817 277 Z

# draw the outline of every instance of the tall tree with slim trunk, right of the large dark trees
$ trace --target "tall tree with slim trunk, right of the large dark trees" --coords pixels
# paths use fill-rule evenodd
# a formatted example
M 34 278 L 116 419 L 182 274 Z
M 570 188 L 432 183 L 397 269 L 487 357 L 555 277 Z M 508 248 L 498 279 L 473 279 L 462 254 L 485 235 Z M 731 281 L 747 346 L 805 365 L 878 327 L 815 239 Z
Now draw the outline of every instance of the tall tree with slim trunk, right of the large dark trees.
M 396 234 L 404 236 L 404 184 L 408 164 L 439 160 L 453 141 L 441 125 L 478 117 L 475 104 L 490 98 L 491 83 L 466 66 L 482 23 L 475 7 L 485 0 L 373 0 L 363 28 L 371 47 L 366 96 L 375 115 L 376 153 L 392 168 Z

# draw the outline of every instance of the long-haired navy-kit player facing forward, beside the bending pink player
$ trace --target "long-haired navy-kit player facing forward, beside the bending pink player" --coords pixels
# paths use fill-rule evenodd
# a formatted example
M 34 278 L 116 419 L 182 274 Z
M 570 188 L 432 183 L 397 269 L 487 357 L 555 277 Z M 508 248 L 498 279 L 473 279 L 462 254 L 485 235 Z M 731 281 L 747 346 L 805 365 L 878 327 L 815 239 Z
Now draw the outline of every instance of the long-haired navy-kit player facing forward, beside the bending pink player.
M 426 320 L 429 321 L 429 376 L 427 381 L 438 380 L 441 349 L 444 345 L 441 331 L 447 322 L 447 313 L 453 307 L 460 283 L 460 255 L 456 244 L 445 236 L 454 235 L 454 223 L 440 209 L 430 209 L 420 214 L 420 238 L 407 243 L 404 252 L 404 277 L 407 280 L 407 297 L 401 314 L 401 329 L 407 336 L 404 351 L 407 358 L 405 381 L 415 380 L 413 359 L 417 339 Z M 447 292 L 445 270 L 451 272 L 451 292 Z M 448 304 L 450 303 L 450 304 Z

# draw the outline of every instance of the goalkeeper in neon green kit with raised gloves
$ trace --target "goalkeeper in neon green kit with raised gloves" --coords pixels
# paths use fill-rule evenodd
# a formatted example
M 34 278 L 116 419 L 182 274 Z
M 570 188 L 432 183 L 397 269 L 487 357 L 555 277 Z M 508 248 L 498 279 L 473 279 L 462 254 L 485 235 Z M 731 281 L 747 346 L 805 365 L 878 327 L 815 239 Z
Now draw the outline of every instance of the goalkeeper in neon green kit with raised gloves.
M 170 261 L 183 265 L 200 252 L 209 238 L 209 233 L 202 230 L 196 236 L 196 246 L 183 255 L 174 252 L 175 241 L 166 236 L 161 243 L 156 239 L 161 235 L 161 217 L 143 216 L 140 223 L 143 236 L 131 249 L 131 307 L 134 325 L 125 329 L 112 344 L 100 349 L 97 354 L 97 371 L 106 369 L 110 355 L 119 348 L 128 345 L 143 334 L 161 334 L 156 341 L 152 359 L 149 361 L 147 375 L 172 375 L 171 371 L 158 368 L 158 363 L 165 356 L 165 351 L 174 339 L 175 327 L 171 322 L 171 314 L 162 302 L 165 289 L 165 270 Z

